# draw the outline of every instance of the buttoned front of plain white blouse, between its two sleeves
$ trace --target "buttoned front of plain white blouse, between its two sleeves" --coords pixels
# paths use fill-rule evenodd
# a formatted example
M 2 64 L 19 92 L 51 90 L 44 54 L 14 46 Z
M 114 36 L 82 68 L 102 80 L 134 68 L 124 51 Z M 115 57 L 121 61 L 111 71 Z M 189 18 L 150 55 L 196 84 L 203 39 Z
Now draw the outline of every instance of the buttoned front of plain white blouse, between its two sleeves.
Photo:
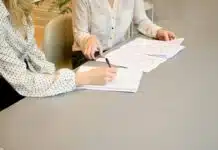
M 134 0 L 89 0 L 89 32 L 96 35 L 104 49 L 128 37 L 134 12 Z

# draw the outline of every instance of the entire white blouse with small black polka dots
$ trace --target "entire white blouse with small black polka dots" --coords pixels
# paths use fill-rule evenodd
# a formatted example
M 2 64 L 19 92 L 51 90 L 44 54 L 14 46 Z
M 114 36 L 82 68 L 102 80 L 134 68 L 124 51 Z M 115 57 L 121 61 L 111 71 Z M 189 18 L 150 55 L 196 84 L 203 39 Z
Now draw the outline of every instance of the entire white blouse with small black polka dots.
M 26 24 L 26 40 L 12 27 L 10 14 L 0 0 L 0 77 L 20 94 L 28 97 L 53 96 L 72 91 L 75 73 L 69 69 L 55 71 L 37 48 L 32 24 Z

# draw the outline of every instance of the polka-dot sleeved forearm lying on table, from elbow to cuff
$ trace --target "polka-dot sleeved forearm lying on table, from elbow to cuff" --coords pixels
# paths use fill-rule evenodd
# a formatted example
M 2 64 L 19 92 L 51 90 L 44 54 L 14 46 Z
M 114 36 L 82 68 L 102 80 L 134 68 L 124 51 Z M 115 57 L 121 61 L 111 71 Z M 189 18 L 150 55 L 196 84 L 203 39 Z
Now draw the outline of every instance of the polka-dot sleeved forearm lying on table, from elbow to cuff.
M 2 75 L 20 95 L 27 97 L 54 96 L 76 88 L 75 73 L 69 69 L 53 74 L 26 71 L 17 74 L 3 72 Z

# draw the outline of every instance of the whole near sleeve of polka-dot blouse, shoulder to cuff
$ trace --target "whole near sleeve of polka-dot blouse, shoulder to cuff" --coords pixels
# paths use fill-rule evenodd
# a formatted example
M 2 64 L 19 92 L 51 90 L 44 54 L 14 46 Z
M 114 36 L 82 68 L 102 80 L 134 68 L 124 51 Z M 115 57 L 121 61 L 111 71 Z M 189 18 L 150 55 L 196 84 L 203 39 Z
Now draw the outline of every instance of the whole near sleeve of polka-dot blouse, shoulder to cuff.
M 28 97 L 53 96 L 76 88 L 75 73 L 60 69 L 52 73 L 37 73 L 27 68 L 0 31 L 0 76 L 21 95 Z M 46 62 L 45 62 L 46 63 Z

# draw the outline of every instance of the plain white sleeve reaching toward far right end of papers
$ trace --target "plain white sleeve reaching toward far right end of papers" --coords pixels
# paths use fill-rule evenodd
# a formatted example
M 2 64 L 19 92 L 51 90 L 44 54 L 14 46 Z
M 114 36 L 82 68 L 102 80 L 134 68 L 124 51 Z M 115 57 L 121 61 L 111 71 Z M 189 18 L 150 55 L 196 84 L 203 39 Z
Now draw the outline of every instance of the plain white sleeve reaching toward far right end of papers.
M 133 21 L 137 25 L 138 31 L 149 37 L 155 38 L 157 31 L 161 29 L 161 27 L 153 24 L 146 15 L 143 0 L 135 0 Z

